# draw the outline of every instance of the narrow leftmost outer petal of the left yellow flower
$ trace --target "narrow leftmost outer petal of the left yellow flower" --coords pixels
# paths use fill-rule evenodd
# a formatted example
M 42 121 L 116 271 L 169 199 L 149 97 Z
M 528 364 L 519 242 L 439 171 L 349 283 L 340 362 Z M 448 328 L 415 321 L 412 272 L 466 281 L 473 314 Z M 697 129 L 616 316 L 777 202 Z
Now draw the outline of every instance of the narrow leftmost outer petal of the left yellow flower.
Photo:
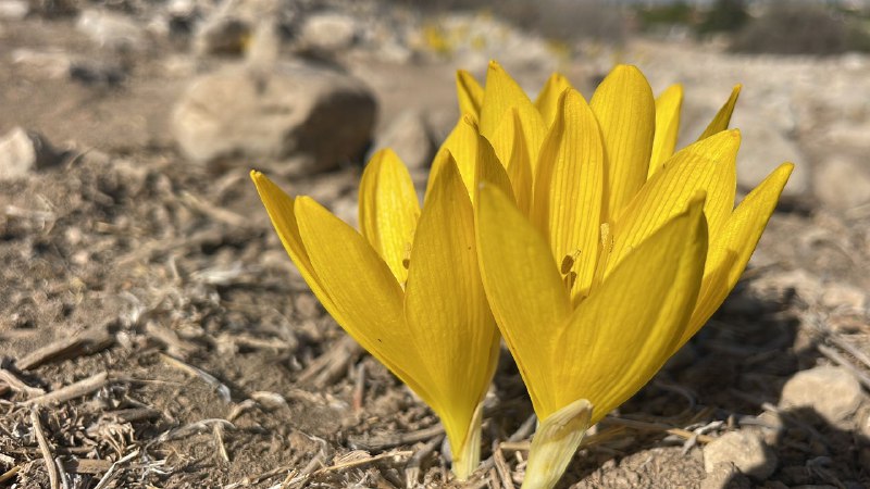
M 318 275 L 314 273 L 314 267 L 311 265 L 304 244 L 302 244 L 302 238 L 299 236 L 299 226 L 296 223 L 294 210 L 295 199 L 284 193 L 278 186 L 262 173 L 251 171 L 250 175 L 253 185 L 257 187 L 257 192 L 260 195 L 260 200 L 262 200 L 265 211 L 269 213 L 269 218 L 272 221 L 272 226 L 278 234 L 282 244 L 284 244 L 284 249 L 290 255 L 290 260 L 293 260 L 296 267 L 299 268 L 299 273 L 308 286 L 324 306 L 328 309 L 327 303 L 331 303 L 332 300 L 326 291 L 323 290 Z

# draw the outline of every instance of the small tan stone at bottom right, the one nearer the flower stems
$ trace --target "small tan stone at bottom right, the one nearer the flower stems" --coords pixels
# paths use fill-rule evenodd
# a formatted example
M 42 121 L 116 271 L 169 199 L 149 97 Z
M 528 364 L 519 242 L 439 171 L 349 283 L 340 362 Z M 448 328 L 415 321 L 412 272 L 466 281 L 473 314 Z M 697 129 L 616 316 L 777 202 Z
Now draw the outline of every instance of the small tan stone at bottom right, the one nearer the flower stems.
M 749 477 L 763 480 L 776 469 L 776 454 L 761 439 L 746 431 L 730 431 L 704 447 L 704 469 L 712 474 L 721 463 L 733 463 Z

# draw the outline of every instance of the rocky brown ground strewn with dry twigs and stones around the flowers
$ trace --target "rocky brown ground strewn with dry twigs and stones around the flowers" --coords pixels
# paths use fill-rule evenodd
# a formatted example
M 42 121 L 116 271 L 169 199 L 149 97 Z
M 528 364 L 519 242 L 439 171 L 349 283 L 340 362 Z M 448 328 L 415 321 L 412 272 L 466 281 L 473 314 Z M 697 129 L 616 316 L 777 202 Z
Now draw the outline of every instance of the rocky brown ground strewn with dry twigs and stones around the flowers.
M 797 163 L 734 294 L 561 487 L 870 487 L 870 58 L 566 48 L 378 2 L 0 0 L 0 485 L 460 487 L 247 172 L 353 222 L 366 150 L 423 185 L 453 70 L 496 58 L 530 91 L 558 68 L 588 96 L 614 62 L 682 82 L 684 142 L 743 83 L 742 190 Z M 461 487 L 519 485 L 531 415 L 505 354 Z

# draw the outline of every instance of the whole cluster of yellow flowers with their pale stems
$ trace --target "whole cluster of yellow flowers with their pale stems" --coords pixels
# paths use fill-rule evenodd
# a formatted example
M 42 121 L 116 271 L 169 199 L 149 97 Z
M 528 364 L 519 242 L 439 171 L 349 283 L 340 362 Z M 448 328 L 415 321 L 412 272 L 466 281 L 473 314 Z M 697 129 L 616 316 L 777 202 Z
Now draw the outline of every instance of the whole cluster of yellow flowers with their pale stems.
M 792 164 L 734 209 L 739 87 L 675 152 L 682 88 L 656 99 L 633 66 L 588 102 L 558 74 L 533 102 L 495 62 L 485 87 L 457 82 L 422 209 L 389 150 L 363 173 L 361 233 L 251 176 L 324 308 L 440 417 L 460 480 L 504 337 L 539 419 L 523 488 L 550 488 L 735 286 Z

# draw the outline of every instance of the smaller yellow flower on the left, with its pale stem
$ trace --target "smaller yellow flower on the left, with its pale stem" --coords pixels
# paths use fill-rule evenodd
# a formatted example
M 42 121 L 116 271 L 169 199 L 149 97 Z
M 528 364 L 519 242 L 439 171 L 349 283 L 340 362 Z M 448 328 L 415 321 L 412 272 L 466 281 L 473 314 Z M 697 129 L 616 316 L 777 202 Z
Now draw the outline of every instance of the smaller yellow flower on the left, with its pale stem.
M 361 235 L 312 199 L 288 197 L 259 172 L 251 177 L 311 290 L 440 417 L 453 473 L 464 479 L 480 462 L 481 406 L 499 335 L 478 272 L 471 200 L 447 160 L 421 212 L 398 156 L 375 154 L 360 184 Z

